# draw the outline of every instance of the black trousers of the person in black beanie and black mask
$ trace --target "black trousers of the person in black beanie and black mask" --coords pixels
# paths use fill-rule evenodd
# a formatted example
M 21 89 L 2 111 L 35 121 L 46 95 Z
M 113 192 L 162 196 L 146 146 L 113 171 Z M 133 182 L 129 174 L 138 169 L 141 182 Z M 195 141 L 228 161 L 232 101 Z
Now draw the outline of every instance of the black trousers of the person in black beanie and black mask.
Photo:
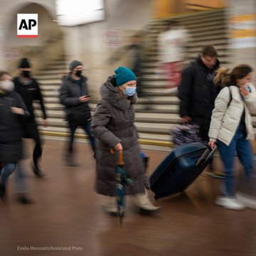
M 35 142 L 35 147 L 33 149 L 33 164 L 36 168 L 38 168 L 38 161 L 41 159 L 43 149 L 36 122 L 26 122 L 24 124 L 24 132 L 25 138 L 33 139 L 33 141 Z

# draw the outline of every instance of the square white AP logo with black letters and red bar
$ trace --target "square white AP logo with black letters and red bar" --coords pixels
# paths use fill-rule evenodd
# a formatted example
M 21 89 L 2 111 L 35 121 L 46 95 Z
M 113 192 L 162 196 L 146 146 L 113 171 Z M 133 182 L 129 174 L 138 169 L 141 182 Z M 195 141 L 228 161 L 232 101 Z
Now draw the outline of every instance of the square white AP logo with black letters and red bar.
M 38 14 L 17 14 L 17 37 L 38 37 Z

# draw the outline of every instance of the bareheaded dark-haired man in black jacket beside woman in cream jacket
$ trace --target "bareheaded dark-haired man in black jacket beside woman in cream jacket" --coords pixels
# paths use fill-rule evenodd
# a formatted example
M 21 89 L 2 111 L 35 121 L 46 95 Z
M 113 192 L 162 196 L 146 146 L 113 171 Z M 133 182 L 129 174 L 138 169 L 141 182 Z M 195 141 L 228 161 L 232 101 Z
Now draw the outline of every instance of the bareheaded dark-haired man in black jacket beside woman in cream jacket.
M 209 140 L 210 117 L 219 91 L 213 83 L 215 70 L 220 65 L 217 56 L 214 46 L 203 46 L 201 55 L 183 70 L 181 85 L 178 87 L 181 119 L 200 126 L 199 136 L 203 142 Z

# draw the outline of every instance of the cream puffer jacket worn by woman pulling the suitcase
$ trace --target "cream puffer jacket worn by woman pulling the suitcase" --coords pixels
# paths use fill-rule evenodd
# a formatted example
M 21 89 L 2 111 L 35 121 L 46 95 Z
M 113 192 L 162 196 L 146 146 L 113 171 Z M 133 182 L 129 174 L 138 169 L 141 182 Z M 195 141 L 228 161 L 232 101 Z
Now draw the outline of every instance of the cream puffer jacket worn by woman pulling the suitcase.
M 254 133 L 250 114 L 256 113 L 255 87 L 251 86 L 251 92 L 244 99 L 242 99 L 237 86 L 224 87 L 215 100 L 208 133 L 210 141 L 215 142 L 216 139 L 219 139 L 228 146 L 235 135 L 244 111 L 247 139 L 252 139 Z

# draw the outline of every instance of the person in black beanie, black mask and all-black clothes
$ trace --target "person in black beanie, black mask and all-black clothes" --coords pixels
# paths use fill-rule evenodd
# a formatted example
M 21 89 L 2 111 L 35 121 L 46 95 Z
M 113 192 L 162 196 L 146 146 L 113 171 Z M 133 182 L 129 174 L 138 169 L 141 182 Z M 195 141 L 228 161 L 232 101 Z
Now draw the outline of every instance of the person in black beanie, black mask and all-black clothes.
M 43 97 L 38 82 L 35 78 L 31 78 L 31 66 L 27 58 L 22 58 L 18 65 L 21 75 L 14 78 L 14 86 L 16 92 L 21 95 L 23 102 L 25 103 L 30 117 L 26 122 L 23 122 L 23 128 L 25 131 L 24 137 L 33 139 L 35 147 L 33 150 L 33 172 L 36 176 L 43 177 L 43 173 L 39 168 L 38 160 L 42 156 L 42 144 L 41 138 L 38 132 L 38 124 L 36 124 L 33 102 L 39 101 L 41 110 L 43 112 L 43 126 L 48 126 L 48 120 L 46 119 L 46 110 L 43 104 Z

